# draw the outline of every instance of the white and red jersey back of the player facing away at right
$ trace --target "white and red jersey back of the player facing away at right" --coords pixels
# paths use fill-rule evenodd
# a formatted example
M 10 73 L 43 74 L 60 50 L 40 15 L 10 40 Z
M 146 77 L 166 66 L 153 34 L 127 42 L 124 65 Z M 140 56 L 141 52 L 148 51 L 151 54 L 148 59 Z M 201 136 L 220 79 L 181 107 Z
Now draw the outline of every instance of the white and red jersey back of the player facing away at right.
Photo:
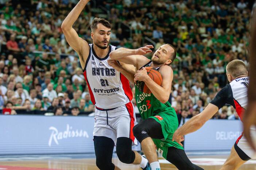
M 249 85 L 249 77 L 241 77 L 237 78 L 230 82 L 230 86 L 233 93 L 234 104 L 236 106 L 236 112 L 240 118 L 242 118 L 242 114 L 244 110 L 247 108 L 248 103 L 248 85 Z

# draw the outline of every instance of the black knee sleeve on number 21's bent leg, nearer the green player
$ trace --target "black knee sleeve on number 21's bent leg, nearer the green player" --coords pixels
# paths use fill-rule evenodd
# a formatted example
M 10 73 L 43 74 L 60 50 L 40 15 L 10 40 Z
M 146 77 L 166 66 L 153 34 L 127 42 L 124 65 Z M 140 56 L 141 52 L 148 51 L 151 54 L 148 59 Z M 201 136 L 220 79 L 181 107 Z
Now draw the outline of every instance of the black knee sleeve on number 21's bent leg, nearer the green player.
M 119 160 L 123 163 L 133 163 L 135 153 L 132 151 L 132 140 L 127 137 L 117 138 L 116 154 Z

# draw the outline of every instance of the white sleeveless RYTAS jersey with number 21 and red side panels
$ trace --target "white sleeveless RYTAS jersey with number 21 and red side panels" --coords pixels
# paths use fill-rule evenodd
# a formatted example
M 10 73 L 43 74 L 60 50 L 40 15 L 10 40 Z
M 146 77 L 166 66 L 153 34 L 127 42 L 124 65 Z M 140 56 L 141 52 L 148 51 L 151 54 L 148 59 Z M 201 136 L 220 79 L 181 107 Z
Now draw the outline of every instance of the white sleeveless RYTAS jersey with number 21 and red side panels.
M 89 44 L 90 52 L 84 68 L 91 101 L 97 108 L 112 109 L 123 106 L 132 100 L 132 90 L 127 78 L 108 65 L 109 53 L 116 49 L 109 45 L 109 52 L 100 58 Z

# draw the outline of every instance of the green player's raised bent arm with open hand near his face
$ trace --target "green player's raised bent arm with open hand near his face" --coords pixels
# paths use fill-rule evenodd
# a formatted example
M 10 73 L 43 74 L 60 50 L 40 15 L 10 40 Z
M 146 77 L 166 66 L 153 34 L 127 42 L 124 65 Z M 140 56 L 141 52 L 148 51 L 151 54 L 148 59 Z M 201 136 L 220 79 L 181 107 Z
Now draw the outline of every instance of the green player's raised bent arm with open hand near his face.
M 152 45 L 146 45 L 139 49 L 127 49 L 127 48 L 119 48 L 112 51 L 109 54 L 109 57 L 113 60 L 121 61 L 126 64 L 132 64 L 137 69 L 140 69 L 143 65 L 145 65 L 150 60 L 146 58 L 145 54 L 151 53 L 151 48 L 154 48 Z

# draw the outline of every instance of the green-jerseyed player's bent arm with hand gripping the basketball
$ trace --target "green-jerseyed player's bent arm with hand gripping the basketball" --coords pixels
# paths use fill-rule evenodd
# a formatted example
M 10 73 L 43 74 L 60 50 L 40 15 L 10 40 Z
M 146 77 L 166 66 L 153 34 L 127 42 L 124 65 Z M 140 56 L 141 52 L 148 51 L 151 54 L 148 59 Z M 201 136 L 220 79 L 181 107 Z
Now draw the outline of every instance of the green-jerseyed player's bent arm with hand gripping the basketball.
M 166 103 L 171 94 L 171 82 L 173 79 L 173 71 L 170 66 L 163 65 L 159 69 L 162 76 L 162 85 L 159 86 L 154 82 L 147 74 L 147 70 L 143 68 L 142 70 L 137 70 L 134 78 L 136 81 L 144 81 L 150 91 L 154 96 L 162 103 Z

